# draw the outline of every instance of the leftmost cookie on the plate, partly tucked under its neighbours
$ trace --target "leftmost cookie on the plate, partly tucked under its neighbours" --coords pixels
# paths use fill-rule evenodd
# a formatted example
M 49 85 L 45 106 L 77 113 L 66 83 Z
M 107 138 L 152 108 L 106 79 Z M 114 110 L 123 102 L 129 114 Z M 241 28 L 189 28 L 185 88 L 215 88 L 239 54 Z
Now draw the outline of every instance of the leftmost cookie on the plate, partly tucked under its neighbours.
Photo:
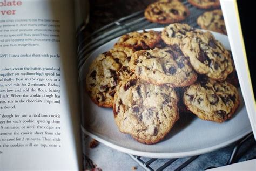
M 119 81 L 133 74 L 128 65 L 133 52 L 133 49 L 118 47 L 100 54 L 92 62 L 86 77 L 86 89 L 95 104 L 113 106 Z

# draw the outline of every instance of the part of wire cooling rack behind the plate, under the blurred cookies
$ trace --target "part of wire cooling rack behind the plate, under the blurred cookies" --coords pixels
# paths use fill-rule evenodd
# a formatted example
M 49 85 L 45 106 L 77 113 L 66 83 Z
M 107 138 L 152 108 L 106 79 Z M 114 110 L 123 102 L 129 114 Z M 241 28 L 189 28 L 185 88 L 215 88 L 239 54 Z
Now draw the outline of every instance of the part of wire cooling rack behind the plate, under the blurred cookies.
M 192 6 L 187 1 L 183 1 L 183 4 L 187 6 L 190 10 L 190 16 L 188 16 L 181 23 L 187 23 L 188 25 L 198 28 L 196 19 L 201 15 L 205 10 L 198 9 Z M 149 22 L 144 17 L 144 10 L 133 13 L 132 15 L 120 18 L 110 24 L 103 26 L 99 30 L 91 33 L 89 36 L 84 36 L 83 30 L 84 26 L 80 26 L 77 30 L 78 38 L 78 67 L 84 64 L 85 60 L 90 56 L 91 52 L 96 50 L 99 46 L 109 42 L 110 40 L 129 33 L 132 31 L 150 29 L 150 28 L 159 28 L 165 27 L 167 24 L 158 24 Z

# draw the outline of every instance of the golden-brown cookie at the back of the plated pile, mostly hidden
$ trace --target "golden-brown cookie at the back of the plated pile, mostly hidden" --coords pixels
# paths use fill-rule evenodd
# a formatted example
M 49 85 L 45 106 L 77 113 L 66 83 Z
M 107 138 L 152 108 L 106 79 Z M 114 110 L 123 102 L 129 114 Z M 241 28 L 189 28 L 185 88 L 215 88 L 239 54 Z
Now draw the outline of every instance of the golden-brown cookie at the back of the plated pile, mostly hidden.
M 131 47 L 136 50 L 153 49 L 161 41 L 161 32 L 159 31 L 143 31 L 131 32 L 120 37 L 114 47 Z

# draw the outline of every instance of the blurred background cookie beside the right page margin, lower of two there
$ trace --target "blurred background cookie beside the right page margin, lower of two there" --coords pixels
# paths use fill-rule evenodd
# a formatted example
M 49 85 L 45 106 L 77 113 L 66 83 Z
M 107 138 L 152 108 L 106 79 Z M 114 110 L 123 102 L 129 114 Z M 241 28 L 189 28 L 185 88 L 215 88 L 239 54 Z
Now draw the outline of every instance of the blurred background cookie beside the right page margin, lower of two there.
M 207 11 L 197 18 L 197 24 L 205 30 L 211 30 L 227 35 L 221 10 Z

